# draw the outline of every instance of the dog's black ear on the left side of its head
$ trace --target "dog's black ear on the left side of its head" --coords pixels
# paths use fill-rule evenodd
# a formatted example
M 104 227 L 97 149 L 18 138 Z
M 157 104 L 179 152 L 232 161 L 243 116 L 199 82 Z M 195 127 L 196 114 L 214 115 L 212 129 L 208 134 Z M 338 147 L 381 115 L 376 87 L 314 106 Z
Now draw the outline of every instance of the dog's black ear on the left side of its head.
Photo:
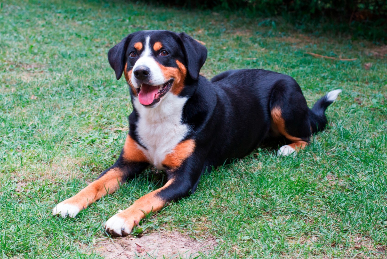
M 130 39 L 132 39 L 132 34 L 123 38 L 120 43 L 111 48 L 108 52 L 108 60 L 111 68 L 113 68 L 114 72 L 116 72 L 117 80 L 122 76 L 123 68 L 125 66 L 125 53 Z

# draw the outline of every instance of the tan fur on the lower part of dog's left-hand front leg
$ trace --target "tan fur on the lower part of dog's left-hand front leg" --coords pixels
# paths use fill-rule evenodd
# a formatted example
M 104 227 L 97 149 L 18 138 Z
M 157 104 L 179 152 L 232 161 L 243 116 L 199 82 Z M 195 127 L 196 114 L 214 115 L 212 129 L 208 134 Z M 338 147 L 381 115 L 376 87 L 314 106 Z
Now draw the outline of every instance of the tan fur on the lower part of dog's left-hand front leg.
M 111 194 L 122 182 L 123 172 L 118 168 L 110 169 L 101 178 L 95 180 L 75 196 L 63 201 L 64 204 L 72 204 L 83 210 L 94 201 L 97 201 L 106 194 Z

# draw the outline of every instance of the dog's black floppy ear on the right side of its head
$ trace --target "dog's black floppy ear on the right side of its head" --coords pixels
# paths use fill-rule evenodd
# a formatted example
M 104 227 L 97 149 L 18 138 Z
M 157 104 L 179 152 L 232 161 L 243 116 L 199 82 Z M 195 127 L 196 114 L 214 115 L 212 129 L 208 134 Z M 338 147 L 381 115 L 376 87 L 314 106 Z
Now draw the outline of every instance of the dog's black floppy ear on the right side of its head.
M 202 68 L 207 58 L 207 49 L 184 32 L 180 33 L 179 37 L 183 42 L 183 51 L 188 73 L 192 79 L 197 80 L 199 78 L 200 68 Z

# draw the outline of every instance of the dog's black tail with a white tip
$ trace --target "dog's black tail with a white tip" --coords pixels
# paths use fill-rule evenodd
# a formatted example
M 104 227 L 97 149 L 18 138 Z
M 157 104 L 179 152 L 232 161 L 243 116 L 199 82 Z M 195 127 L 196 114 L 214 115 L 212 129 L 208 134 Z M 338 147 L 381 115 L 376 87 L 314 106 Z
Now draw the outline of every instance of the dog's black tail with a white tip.
M 317 101 L 312 109 L 309 109 L 310 128 L 312 129 L 312 133 L 322 131 L 325 126 L 327 126 L 328 121 L 325 116 L 325 110 L 336 100 L 340 93 L 340 89 L 330 91 Z

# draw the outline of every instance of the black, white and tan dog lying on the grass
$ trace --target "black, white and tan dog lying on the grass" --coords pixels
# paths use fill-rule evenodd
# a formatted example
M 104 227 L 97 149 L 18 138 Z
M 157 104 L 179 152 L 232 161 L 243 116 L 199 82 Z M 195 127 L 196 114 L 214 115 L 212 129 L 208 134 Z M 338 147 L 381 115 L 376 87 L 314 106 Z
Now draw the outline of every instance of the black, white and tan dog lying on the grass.
M 209 81 L 199 75 L 206 58 L 202 44 L 171 31 L 135 32 L 110 49 L 117 80 L 123 73 L 130 86 L 129 133 L 115 164 L 59 203 L 54 215 L 75 217 L 150 165 L 165 170 L 163 187 L 106 222 L 107 233 L 128 235 L 145 213 L 194 193 L 207 169 L 247 155 L 267 138 L 286 138 L 278 154 L 295 155 L 324 129 L 325 109 L 341 92 L 329 92 L 309 109 L 288 75 L 243 69 Z

